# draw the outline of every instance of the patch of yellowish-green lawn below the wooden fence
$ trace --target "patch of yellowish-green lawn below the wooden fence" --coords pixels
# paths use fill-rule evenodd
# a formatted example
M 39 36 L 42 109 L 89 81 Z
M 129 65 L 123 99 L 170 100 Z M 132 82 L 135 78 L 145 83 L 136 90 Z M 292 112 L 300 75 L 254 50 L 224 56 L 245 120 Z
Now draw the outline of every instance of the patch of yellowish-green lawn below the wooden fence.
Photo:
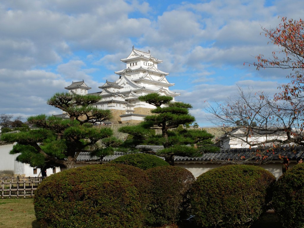
M 32 198 L 0 199 L 0 227 L 40 228 L 33 202 Z

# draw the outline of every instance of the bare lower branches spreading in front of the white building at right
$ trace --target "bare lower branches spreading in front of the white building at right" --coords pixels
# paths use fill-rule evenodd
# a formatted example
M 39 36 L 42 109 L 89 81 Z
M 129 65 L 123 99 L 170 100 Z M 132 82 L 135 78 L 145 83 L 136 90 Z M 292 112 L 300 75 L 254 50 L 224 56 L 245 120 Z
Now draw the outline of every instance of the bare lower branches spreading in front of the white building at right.
M 209 105 L 207 110 L 213 114 L 209 121 L 222 127 L 227 136 L 249 147 L 278 147 L 304 145 L 302 118 L 295 114 L 299 105 L 275 101 L 264 92 L 253 94 L 252 89 L 245 93 L 239 87 L 238 95 L 216 107 Z M 236 130 L 240 131 L 236 134 Z

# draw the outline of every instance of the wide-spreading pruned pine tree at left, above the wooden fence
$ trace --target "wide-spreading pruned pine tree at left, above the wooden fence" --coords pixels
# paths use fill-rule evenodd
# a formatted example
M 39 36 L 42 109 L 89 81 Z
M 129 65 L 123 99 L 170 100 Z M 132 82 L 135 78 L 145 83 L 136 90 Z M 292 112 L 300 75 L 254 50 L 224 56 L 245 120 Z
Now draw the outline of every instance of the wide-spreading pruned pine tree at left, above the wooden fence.
M 98 96 L 56 93 L 47 104 L 67 112 L 70 119 L 31 116 L 28 122 L 39 129 L 2 134 L 1 140 L 17 142 L 10 154 L 19 154 L 16 160 L 29 163 L 32 167 L 74 168 L 81 152 L 89 152 L 92 157 L 103 157 L 112 153 L 112 145 L 118 146 L 121 142 L 115 138 L 109 140 L 112 136 L 110 128 L 92 125 L 97 120 L 111 118 L 110 110 L 91 105 L 98 101 Z

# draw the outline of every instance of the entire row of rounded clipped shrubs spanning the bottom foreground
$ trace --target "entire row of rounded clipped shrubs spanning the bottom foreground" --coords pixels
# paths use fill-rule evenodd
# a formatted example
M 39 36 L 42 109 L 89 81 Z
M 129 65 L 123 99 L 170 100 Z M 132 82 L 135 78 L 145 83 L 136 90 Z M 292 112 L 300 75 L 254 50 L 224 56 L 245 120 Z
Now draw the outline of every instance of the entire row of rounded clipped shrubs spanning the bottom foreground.
M 296 180 L 296 181 L 295 181 Z M 47 177 L 35 195 L 42 227 L 156 227 L 195 215 L 198 227 L 249 227 L 271 197 L 284 227 L 303 227 L 304 165 L 276 182 L 263 168 L 227 165 L 197 178 L 184 168 L 124 164 L 75 168 Z

